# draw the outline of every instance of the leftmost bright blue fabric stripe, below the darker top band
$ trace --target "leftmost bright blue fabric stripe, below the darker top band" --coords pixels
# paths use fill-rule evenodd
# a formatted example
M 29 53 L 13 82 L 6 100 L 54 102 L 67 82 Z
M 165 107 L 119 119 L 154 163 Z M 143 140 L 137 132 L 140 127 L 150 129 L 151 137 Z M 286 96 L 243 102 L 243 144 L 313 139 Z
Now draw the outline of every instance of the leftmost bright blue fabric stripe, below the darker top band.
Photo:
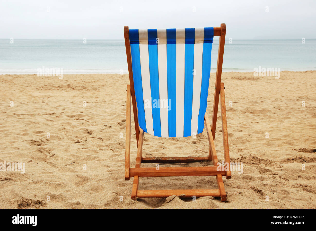
M 141 127 L 144 130 L 144 132 L 147 132 L 143 98 L 142 72 L 140 67 L 139 44 L 131 44 L 131 56 L 135 97 L 138 110 L 138 124 L 139 127 Z

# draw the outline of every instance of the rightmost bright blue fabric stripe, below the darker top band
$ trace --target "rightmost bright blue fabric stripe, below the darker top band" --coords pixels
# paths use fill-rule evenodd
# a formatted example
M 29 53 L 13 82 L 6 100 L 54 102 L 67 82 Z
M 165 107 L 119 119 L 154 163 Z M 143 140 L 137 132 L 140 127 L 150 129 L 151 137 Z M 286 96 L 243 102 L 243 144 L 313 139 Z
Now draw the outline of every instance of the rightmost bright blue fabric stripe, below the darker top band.
M 203 44 L 203 61 L 202 61 L 202 84 L 200 95 L 200 111 L 198 113 L 197 133 L 203 132 L 204 129 L 204 115 L 206 112 L 207 96 L 209 91 L 210 72 L 211 72 L 211 51 L 212 44 Z

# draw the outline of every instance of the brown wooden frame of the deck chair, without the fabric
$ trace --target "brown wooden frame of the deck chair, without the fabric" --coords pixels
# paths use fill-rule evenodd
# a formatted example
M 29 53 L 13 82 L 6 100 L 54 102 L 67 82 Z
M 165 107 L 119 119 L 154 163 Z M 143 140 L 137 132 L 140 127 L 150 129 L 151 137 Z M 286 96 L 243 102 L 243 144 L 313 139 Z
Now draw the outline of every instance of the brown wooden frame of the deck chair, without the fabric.
M 128 64 L 128 72 L 130 78 L 130 85 L 127 85 L 126 96 L 126 143 L 125 143 L 125 180 L 130 180 L 134 177 L 132 187 L 132 199 L 137 198 L 163 198 L 171 195 L 179 197 L 203 197 L 213 196 L 220 197 L 221 201 L 226 201 L 226 193 L 222 180 L 222 176 L 227 179 L 231 178 L 229 148 L 228 148 L 228 132 L 227 132 L 227 118 L 225 106 L 225 93 L 224 84 L 221 83 L 222 65 L 225 45 L 226 25 L 221 24 L 221 27 L 214 27 L 214 36 L 219 36 L 219 47 L 217 57 L 216 81 L 215 81 L 215 94 L 213 104 L 212 124 L 210 125 L 208 114 L 205 113 L 204 121 L 206 132 L 209 140 L 209 155 L 207 157 L 153 157 L 143 158 L 143 136 L 144 131 L 138 125 L 137 105 L 134 90 L 132 61 L 131 61 L 131 45 L 129 40 L 129 28 L 124 27 L 125 47 Z M 222 133 L 224 145 L 224 159 L 225 166 L 217 169 L 219 163 L 215 149 L 215 130 L 217 120 L 218 103 L 221 102 L 221 116 L 222 116 Z M 135 122 L 136 141 L 137 141 L 137 157 L 135 168 L 130 167 L 130 153 L 131 153 L 131 102 L 133 105 L 133 115 Z M 141 168 L 141 163 L 189 163 L 213 161 L 214 166 L 207 167 L 164 167 L 159 168 Z M 161 177 L 161 176 L 216 176 L 218 189 L 186 189 L 186 190 L 138 190 L 139 177 Z

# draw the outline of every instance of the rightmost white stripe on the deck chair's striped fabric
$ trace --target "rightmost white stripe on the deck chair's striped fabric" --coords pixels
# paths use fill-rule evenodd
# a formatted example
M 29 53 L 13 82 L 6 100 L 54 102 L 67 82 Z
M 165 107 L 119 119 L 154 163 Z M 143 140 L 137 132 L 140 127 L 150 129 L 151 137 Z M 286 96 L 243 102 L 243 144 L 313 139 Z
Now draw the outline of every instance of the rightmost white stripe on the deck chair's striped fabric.
M 201 28 L 202 29 L 202 28 Z M 195 29 L 195 37 L 204 37 L 204 28 Z M 198 113 L 200 111 L 200 96 L 202 85 L 202 61 L 203 61 L 203 43 L 194 44 L 194 66 L 193 66 L 193 96 L 192 96 L 192 118 L 191 118 L 191 135 L 197 134 Z

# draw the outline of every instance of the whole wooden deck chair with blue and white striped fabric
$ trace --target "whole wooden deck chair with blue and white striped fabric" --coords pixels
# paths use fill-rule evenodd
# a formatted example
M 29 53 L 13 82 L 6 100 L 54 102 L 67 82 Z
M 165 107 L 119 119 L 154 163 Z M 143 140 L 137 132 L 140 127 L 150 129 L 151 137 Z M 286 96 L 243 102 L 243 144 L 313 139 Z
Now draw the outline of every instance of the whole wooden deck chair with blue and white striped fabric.
M 231 177 L 224 84 L 221 83 L 226 26 L 129 30 L 124 27 L 130 85 L 126 98 L 125 180 L 134 177 L 131 198 L 184 198 L 213 196 L 226 201 L 222 176 Z M 213 37 L 219 36 L 212 124 L 206 104 Z M 214 139 L 221 102 L 225 168 L 219 166 Z M 135 168 L 130 167 L 131 102 L 137 142 Z M 167 103 L 166 103 L 167 102 Z M 187 137 L 203 132 L 209 140 L 206 157 L 143 157 L 143 136 Z M 213 161 L 206 167 L 141 168 L 141 163 L 189 163 Z M 138 190 L 140 177 L 216 176 L 218 189 Z

